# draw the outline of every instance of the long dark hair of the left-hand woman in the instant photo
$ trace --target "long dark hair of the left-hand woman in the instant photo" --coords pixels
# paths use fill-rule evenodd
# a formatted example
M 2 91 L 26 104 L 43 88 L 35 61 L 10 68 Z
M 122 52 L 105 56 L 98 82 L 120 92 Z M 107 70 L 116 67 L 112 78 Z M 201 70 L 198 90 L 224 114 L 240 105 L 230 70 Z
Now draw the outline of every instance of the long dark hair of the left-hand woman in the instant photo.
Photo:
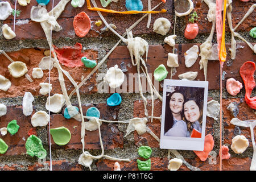
M 172 115 L 172 111 L 170 109 L 170 100 L 174 93 L 182 94 L 184 101 L 186 100 L 184 93 L 181 92 L 180 90 L 176 90 L 166 96 L 166 116 L 164 118 L 164 133 L 166 133 L 168 130 L 170 130 L 172 128 L 172 125 L 174 124 L 174 116 Z M 184 104 L 184 102 L 183 102 L 183 104 Z M 181 110 L 180 115 L 181 115 L 181 118 L 184 118 L 183 109 Z

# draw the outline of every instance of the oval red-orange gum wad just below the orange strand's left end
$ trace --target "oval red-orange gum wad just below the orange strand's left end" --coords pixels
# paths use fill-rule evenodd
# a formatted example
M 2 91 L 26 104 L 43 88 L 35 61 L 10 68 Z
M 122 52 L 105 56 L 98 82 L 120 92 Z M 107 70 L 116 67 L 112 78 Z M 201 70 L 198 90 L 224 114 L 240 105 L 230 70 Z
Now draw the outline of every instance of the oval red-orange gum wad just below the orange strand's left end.
M 73 27 L 76 35 L 83 38 L 90 31 L 89 16 L 84 11 L 77 14 L 73 20 Z

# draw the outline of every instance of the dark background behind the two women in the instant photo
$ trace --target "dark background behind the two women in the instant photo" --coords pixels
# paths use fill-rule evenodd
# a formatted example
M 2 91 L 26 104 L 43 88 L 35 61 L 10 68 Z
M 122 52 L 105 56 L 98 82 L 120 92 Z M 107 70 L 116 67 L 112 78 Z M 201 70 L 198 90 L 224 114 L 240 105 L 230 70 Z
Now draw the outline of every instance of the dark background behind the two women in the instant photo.
M 164 119 L 164 133 L 166 133 L 171 127 L 173 120 L 171 119 L 172 115 L 171 109 L 169 106 L 170 100 L 171 100 L 171 93 L 179 90 L 183 92 L 185 99 L 188 98 L 196 98 L 200 105 L 201 108 L 203 109 L 204 107 L 204 89 L 201 87 L 189 87 L 189 86 L 169 86 L 167 85 L 167 90 L 170 90 L 171 92 L 166 92 L 166 111 L 165 111 L 165 119 Z M 185 102 L 185 101 L 184 101 Z M 184 117 L 184 114 L 181 113 L 181 118 Z

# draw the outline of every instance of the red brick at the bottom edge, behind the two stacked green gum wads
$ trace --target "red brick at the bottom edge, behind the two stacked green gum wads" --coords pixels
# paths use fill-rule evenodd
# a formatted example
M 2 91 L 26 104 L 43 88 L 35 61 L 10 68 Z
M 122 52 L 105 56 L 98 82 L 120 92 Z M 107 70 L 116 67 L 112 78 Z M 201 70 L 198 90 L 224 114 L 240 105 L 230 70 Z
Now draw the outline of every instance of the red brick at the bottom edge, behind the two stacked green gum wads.
M 138 158 L 145 160 L 143 158 Z M 154 158 L 151 157 L 151 171 L 166 171 L 168 170 L 167 158 Z M 98 171 L 114 171 L 114 160 L 98 160 L 96 162 Z M 137 166 L 137 159 L 131 160 L 131 162 L 118 162 L 120 164 L 121 171 L 139 171 Z

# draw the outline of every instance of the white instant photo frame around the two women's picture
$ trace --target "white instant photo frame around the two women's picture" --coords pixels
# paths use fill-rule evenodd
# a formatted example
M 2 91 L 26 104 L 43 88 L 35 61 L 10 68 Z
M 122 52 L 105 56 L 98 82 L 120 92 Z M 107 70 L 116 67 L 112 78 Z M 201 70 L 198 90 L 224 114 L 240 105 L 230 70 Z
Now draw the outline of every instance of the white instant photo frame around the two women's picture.
M 198 89 L 197 89 L 198 88 Z M 183 89 L 189 98 L 191 96 L 201 97 L 202 103 L 202 123 L 201 123 L 201 138 L 191 137 L 172 137 L 164 135 L 164 125 L 167 122 L 166 118 L 166 98 L 168 93 L 172 93 L 175 89 Z M 187 91 L 186 91 L 187 89 Z M 191 90 L 200 90 L 199 93 L 191 93 Z M 160 133 L 160 148 L 162 149 L 174 149 L 174 150 L 193 150 L 203 151 L 204 150 L 204 137 L 205 137 L 205 123 L 207 117 L 207 97 L 208 97 L 208 81 L 190 81 L 190 80 L 164 80 L 163 86 L 163 106 L 162 106 L 162 121 L 161 121 L 161 133 Z

